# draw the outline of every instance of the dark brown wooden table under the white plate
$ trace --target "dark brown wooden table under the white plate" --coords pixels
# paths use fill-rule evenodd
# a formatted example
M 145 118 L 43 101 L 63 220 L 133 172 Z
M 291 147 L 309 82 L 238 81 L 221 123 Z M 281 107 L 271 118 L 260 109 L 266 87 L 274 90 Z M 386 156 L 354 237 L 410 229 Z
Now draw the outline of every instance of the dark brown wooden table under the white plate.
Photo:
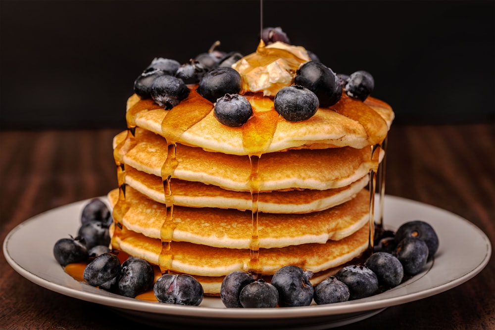
M 0 240 L 36 214 L 116 187 L 111 139 L 117 132 L 0 132 Z M 456 213 L 495 242 L 493 125 L 394 126 L 388 148 L 388 194 Z M 29 282 L 2 254 L 0 329 L 130 328 L 143 326 Z M 467 283 L 343 329 L 379 328 L 495 329 L 494 257 Z

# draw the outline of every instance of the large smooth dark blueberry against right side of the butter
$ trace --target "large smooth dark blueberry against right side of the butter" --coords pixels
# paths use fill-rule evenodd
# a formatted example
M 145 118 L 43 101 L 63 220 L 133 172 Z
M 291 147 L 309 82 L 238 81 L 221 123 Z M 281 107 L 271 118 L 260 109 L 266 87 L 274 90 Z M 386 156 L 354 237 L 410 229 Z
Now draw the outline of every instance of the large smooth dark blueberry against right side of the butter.
M 342 96 L 339 79 L 321 62 L 310 61 L 301 65 L 296 71 L 294 83 L 316 94 L 320 106 L 334 105 Z

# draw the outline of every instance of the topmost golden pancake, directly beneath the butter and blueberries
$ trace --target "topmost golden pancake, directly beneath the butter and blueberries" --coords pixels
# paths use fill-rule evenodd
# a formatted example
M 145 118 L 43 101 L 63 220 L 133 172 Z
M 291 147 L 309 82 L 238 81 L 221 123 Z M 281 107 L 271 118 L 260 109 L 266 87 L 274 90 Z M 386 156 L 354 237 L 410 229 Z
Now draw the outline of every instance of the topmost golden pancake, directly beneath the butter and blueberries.
M 201 97 L 192 89 L 189 99 Z M 351 146 L 363 148 L 383 141 L 394 119 L 390 105 L 368 97 L 364 102 L 351 99 L 343 94 L 346 111 L 339 102 L 335 106 L 319 108 L 308 120 L 290 122 L 275 114 L 276 130 L 269 147 L 264 152 L 275 152 L 291 148 L 329 148 Z M 133 106 L 140 107 L 139 96 L 133 95 L 128 101 L 128 112 Z M 253 110 L 273 111 L 273 101 L 264 97 L 263 102 L 251 101 Z M 210 105 L 213 110 L 213 104 Z M 166 137 L 161 123 L 169 112 L 156 109 L 142 109 L 136 115 L 135 124 L 150 132 Z M 148 111 L 151 110 L 151 111 Z M 340 112 L 336 111 L 340 110 Z M 363 115 L 363 112 L 366 116 Z M 276 112 L 275 112 L 276 113 Z M 364 125 L 364 126 L 363 126 Z M 227 154 L 247 155 L 243 147 L 243 128 L 222 125 L 210 111 L 202 120 L 184 132 L 176 142 L 198 146 L 205 150 Z

